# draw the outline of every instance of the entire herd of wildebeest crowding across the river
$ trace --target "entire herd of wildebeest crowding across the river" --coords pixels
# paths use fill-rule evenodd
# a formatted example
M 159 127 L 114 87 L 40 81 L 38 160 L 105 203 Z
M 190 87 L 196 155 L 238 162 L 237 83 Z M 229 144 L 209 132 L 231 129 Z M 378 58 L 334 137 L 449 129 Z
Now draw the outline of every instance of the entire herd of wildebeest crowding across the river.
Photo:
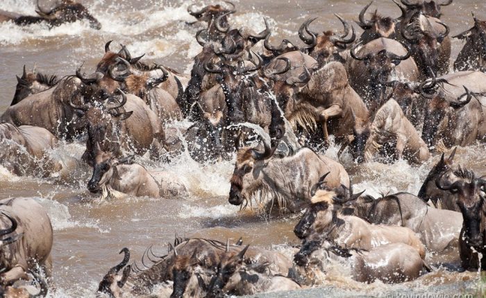
M 426 253 L 446 249 L 455 249 L 465 270 L 485 268 L 486 179 L 453 159 L 456 146 L 486 137 L 486 21 L 473 14 L 471 29 L 451 37 L 440 17 L 452 0 L 392 1 L 401 11 L 396 19 L 376 11 L 367 17 L 371 3 L 364 6 L 360 37 L 340 15 L 342 32 L 315 32 L 316 18 L 309 18 L 298 30 L 300 46 L 272 42 L 266 18 L 261 32 L 236 28 L 229 1 L 190 6 L 194 23 L 206 28 L 196 33 L 202 49 L 187 75 L 147 64 L 144 55 L 133 57 L 130 46 L 111 40 L 92 71 L 81 65 L 59 78 L 24 67 L 0 117 L 1 166 L 49 177 L 65 170 L 49 150 L 60 141 L 83 143 L 81 161 L 92 168 L 87 190 L 116 200 L 187 191 L 177 177 L 156 179 L 137 163 L 142 155 L 161 163 L 182 152 L 201 163 L 235 157 L 230 204 L 256 204 L 274 216 L 301 213 L 294 234 L 302 243 L 292 260 L 241 238 L 176 237 L 167 255 L 146 249 L 142 269 L 128 265 L 130 251 L 121 249 L 121 263 L 100 277 L 100 296 L 298 290 L 318 284 L 331 261 L 356 281 L 401 283 L 433 271 Z M 72 0 L 51 10 L 37 2 L 37 14 L 0 12 L 0 21 L 52 27 L 87 19 L 101 27 Z M 451 38 L 465 41 L 453 64 Z M 190 125 L 174 126 L 184 119 Z M 417 195 L 373 198 L 355 193 L 346 168 L 322 153 L 331 143 L 358 167 L 442 156 Z M 53 230 L 44 207 L 33 199 L 2 200 L 0 228 L 3 295 L 55 292 Z M 19 286 L 21 279 L 38 285 L 38 293 Z

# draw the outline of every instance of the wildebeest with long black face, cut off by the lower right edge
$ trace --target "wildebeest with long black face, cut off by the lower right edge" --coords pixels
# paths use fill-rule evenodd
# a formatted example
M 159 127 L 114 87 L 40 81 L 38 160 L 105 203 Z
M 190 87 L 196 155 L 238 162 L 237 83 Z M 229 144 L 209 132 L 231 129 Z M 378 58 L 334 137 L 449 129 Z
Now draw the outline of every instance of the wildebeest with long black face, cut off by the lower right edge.
M 485 270 L 486 260 L 486 181 L 471 170 L 449 170 L 435 182 L 439 189 L 455 195 L 464 222 L 459 236 L 459 254 L 464 269 Z

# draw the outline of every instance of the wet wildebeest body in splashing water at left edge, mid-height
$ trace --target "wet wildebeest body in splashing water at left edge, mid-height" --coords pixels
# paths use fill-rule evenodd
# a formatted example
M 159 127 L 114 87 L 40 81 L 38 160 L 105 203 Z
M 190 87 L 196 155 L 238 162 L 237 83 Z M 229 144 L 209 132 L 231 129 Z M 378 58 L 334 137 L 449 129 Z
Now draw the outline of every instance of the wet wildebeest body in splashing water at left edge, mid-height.
M 48 150 L 58 139 L 44 128 L 0 123 L 0 164 L 15 175 L 48 176 L 62 166 L 51 159 Z

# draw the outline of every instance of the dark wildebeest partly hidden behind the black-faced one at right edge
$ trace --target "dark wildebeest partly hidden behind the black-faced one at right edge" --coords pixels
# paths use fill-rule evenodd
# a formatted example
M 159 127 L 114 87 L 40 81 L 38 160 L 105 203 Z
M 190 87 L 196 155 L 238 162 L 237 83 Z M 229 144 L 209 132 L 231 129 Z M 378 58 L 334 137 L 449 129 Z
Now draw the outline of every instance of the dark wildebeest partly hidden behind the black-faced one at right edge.
M 447 159 L 444 158 L 444 153 L 442 153 L 439 162 L 428 173 L 417 196 L 426 203 L 430 200 L 435 208 L 460 212 L 459 206 L 455 202 L 455 195 L 449 191 L 442 191 L 435 185 L 437 177 L 452 169 L 455 149 L 457 148 L 452 150 Z

